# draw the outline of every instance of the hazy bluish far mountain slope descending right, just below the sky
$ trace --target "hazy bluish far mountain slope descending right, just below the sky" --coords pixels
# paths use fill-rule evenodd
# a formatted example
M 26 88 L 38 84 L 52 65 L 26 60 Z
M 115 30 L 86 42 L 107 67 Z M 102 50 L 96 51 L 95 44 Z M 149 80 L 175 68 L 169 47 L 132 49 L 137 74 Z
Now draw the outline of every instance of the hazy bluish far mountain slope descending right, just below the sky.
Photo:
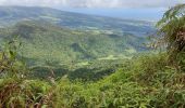
M 64 12 L 37 6 L 0 6 L 0 24 L 10 26 L 21 21 L 40 21 L 61 27 L 94 30 L 106 33 L 133 33 L 147 36 L 155 31 L 152 24 L 144 21 L 119 19 L 95 15 Z

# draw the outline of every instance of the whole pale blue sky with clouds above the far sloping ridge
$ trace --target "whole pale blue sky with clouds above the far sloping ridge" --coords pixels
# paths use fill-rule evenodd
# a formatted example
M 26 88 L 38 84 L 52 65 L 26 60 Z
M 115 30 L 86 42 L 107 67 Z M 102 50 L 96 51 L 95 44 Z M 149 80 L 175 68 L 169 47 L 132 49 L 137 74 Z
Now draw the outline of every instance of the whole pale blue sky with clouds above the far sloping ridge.
M 0 5 L 49 6 L 63 11 L 120 18 L 157 21 L 185 0 L 0 0 Z

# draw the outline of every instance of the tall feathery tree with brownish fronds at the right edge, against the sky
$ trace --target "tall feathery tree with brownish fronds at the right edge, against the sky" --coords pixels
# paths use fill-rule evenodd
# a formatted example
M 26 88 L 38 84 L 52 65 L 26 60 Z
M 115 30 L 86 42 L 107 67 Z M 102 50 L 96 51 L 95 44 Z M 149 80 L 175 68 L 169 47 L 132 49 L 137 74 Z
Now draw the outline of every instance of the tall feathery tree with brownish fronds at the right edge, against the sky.
M 168 10 L 157 24 L 158 35 L 162 37 L 159 43 L 168 46 L 171 63 L 182 60 L 185 55 L 185 4 L 177 4 Z

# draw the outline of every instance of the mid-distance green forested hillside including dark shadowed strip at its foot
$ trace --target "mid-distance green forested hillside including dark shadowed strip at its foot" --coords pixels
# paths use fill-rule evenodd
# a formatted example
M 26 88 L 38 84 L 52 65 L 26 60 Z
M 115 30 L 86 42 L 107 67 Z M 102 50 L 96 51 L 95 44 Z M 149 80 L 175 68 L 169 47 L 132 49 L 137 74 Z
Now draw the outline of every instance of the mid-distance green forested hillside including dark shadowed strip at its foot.
M 114 72 L 122 59 L 147 50 L 141 45 L 145 38 L 130 33 L 94 33 L 38 22 L 2 28 L 0 36 L 1 42 L 20 37 L 22 48 L 17 56 L 27 63 L 30 76 L 40 79 L 67 75 L 71 80 L 99 80 Z

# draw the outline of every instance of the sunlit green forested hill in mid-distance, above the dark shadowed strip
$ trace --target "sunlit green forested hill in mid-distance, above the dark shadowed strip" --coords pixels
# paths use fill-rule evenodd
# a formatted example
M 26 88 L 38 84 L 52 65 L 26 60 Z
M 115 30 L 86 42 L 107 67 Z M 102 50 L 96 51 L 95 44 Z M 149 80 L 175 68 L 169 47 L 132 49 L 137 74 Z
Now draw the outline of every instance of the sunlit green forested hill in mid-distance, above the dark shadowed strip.
M 146 39 L 131 33 L 107 35 L 72 30 L 39 22 L 22 22 L 0 29 L 1 39 L 13 36 L 20 36 L 25 58 L 41 63 L 51 60 L 66 64 L 89 59 L 130 58 L 146 50 L 141 45 Z

